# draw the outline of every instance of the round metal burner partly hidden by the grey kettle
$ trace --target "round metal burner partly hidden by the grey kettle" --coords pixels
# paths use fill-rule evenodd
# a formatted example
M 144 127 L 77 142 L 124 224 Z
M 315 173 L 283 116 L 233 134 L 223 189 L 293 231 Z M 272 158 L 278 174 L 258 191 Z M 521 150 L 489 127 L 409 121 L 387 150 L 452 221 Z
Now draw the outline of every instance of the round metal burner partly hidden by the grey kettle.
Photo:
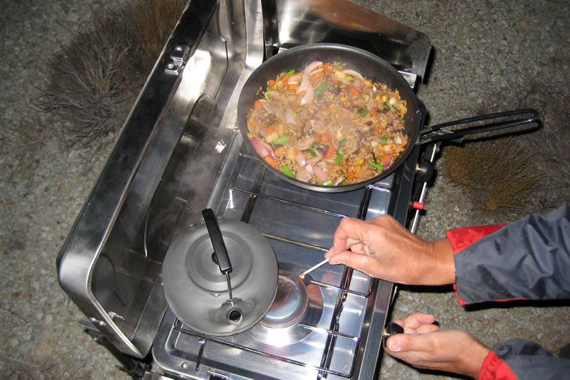
M 308 296 L 305 284 L 291 272 L 279 270 L 277 295 L 273 305 L 261 320 L 263 326 L 284 328 L 296 323 L 305 313 Z

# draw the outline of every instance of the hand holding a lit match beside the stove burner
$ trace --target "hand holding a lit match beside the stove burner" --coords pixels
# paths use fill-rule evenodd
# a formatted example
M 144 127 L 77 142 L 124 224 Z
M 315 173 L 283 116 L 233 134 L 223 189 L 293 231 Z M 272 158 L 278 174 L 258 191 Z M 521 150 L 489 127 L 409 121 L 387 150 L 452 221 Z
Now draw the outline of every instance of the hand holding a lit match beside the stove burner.
M 332 265 L 348 265 L 391 282 L 416 285 L 455 282 L 453 248 L 449 241 L 446 238 L 424 241 L 390 215 L 366 221 L 342 219 L 325 258 Z

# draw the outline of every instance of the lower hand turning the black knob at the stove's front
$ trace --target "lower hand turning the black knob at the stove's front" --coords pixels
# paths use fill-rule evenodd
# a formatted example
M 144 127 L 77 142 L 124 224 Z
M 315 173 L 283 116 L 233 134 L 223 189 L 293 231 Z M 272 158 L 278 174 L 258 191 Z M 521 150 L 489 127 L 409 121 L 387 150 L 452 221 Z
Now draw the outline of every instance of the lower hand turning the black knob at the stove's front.
M 461 330 L 440 329 L 431 314 L 414 313 L 398 320 L 403 334 L 392 335 L 386 351 L 417 368 L 438 369 L 477 379 L 489 348 Z

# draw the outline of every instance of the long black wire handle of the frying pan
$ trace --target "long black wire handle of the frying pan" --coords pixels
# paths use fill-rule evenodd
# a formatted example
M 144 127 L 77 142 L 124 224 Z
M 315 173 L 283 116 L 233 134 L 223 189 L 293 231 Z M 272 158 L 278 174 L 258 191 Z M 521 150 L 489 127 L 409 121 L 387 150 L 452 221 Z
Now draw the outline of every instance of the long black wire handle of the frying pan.
M 464 129 L 458 129 L 455 131 L 448 131 L 443 129 L 445 127 L 451 127 L 453 125 L 463 125 L 472 122 L 478 122 L 481 120 L 501 120 L 506 117 L 513 117 L 514 119 L 504 120 L 504 121 L 492 121 L 484 125 L 478 125 L 477 127 L 470 127 Z M 536 124 L 536 127 L 540 126 L 540 120 L 538 119 L 537 110 L 532 108 L 523 108 L 520 110 L 510 110 L 501 113 L 491 113 L 489 115 L 467 117 L 466 119 L 455 120 L 453 122 L 444 122 L 442 124 L 434 125 L 433 127 L 427 127 L 421 129 L 419 132 L 419 141 L 416 145 L 428 144 L 430 142 L 439 142 L 444 140 L 458 139 L 458 137 L 464 137 L 467 134 L 475 134 L 482 132 L 496 131 L 498 129 L 507 129 L 511 127 L 516 127 L 517 125 L 525 124 Z M 426 137 L 422 139 L 422 136 Z

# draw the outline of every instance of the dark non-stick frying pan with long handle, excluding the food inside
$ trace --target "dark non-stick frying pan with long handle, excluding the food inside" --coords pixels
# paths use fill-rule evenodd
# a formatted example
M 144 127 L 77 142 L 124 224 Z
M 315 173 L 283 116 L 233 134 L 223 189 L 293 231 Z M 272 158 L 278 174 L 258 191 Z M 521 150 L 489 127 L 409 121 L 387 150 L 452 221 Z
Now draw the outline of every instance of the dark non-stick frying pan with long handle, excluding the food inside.
M 269 79 L 274 79 L 277 75 L 289 71 L 290 69 L 296 69 L 298 71 L 302 70 L 307 64 L 313 61 L 337 61 L 345 63 L 347 64 L 347 69 L 358 71 L 363 76 L 373 77 L 376 81 L 386 84 L 388 88 L 391 88 L 392 90 L 397 89 L 400 91 L 400 98 L 402 100 L 407 100 L 407 112 L 404 115 L 404 133 L 408 136 L 408 145 L 400 156 L 397 157 L 395 162 L 393 162 L 385 171 L 376 175 L 376 177 L 359 183 L 351 183 L 349 185 L 315 185 L 297 180 L 296 178 L 291 178 L 289 175 L 281 173 L 281 171 L 278 171 L 269 165 L 269 163 L 264 161 L 260 154 L 257 154 L 257 151 L 255 151 L 251 146 L 248 139 L 248 125 L 246 118 L 248 113 L 250 113 L 250 109 L 253 107 L 255 100 L 260 98 L 260 88 L 265 88 Z M 502 122 L 496 121 L 499 119 L 504 120 L 505 117 L 507 117 L 508 120 Z M 454 130 L 453 132 L 448 132 L 445 129 L 442 129 L 443 127 L 465 125 L 472 122 L 479 122 L 481 120 L 490 121 L 487 122 L 487 124 Z M 522 109 L 470 117 L 422 129 L 423 117 L 419 108 L 419 101 L 407 81 L 405 81 L 402 75 L 400 75 L 400 73 L 398 73 L 391 64 L 370 52 L 366 52 L 366 50 L 361 50 L 347 45 L 325 43 L 293 47 L 267 59 L 267 61 L 263 62 L 260 67 L 257 67 L 257 69 L 252 72 L 248 80 L 245 82 L 238 101 L 238 124 L 240 132 L 243 135 L 245 142 L 250 144 L 252 148 L 251 150 L 260 162 L 266 166 L 269 171 L 278 175 L 279 178 L 301 188 L 320 192 L 343 192 L 361 188 L 369 183 L 375 183 L 376 181 L 390 175 L 402 163 L 404 163 L 416 145 L 457 139 L 458 137 L 463 137 L 466 134 L 489 132 L 497 129 L 511 128 L 517 125 L 537 123 L 537 120 L 538 113 L 536 110 Z

